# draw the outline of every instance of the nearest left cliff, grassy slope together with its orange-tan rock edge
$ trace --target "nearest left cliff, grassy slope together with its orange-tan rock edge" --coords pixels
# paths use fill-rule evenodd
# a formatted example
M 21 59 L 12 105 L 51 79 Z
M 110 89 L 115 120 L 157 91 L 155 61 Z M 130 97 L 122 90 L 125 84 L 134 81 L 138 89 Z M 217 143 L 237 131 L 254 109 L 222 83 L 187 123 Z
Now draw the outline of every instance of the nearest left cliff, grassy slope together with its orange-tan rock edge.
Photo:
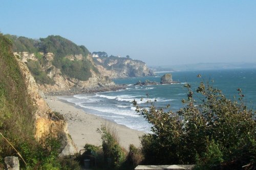
M 25 156 L 45 135 L 61 139 L 61 155 L 73 154 L 65 120 L 48 107 L 27 65 L 11 48 L 11 41 L 0 34 L 0 132 Z M 29 148 L 24 149 L 25 145 Z M 0 169 L 3 158 L 13 154 L 1 137 Z

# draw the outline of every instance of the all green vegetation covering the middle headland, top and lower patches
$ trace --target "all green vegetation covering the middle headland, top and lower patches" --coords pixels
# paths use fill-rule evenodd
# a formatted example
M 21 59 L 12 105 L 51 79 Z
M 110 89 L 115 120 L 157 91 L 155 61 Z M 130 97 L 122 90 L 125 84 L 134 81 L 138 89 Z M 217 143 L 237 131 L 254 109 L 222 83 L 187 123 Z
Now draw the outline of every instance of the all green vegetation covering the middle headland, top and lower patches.
M 66 38 L 51 35 L 47 38 L 34 40 L 26 37 L 17 37 L 15 35 L 7 36 L 13 42 L 12 48 L 14 52 L 35 53 L 36 57 L 38 56 L 39 52 L 45 54 L 53 53 L 54 59 L 52 64 L 59 68 L 63 75 L 70 78 L 86 81 L 92 77 L 91 69 L 98 73 L 97 68 L 94 67 L 93 63 L 87 58 L 90 53 L 87 48 L 83 45 L 76 45 L 74 42 Z M 66 58 L 67 56 L 71 55 L 82 55 L 82 59 L 75 59 L 72 61 Z M 40 57 L 41 56 L 37 58 L 41 64 L 41 67 L 44 67 L 44 60 Z M 28 63 L 29 69 L 33 76 L 36 76 L 36 82 L 39 84 L 52 84 L 53 81 L 47 77 L 47 74 L 44 74 L 41 71 L 41 68 L 39 69 L 39 72 L 35 71 L 37 68 L 39 68 L 38 64 L 39 63 Z

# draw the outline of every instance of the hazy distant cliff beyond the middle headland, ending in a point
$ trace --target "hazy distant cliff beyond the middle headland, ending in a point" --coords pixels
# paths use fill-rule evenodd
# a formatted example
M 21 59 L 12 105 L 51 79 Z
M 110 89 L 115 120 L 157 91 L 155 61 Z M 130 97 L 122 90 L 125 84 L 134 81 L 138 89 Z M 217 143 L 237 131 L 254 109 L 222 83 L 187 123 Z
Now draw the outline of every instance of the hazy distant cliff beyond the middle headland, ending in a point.
M 139 60 L 119 57 L 94 58 L 101 75 L 113 78 L 152 76 L 154 72 Z

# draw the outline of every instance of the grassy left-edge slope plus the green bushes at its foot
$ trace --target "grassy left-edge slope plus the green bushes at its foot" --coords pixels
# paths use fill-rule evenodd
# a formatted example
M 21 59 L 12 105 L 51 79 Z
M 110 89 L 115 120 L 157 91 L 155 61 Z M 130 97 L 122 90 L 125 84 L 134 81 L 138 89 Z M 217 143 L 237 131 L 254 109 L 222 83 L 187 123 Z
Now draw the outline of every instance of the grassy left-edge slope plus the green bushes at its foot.
M 22 169 L 79 169 L 75 168 L 77 162 L 58 158 L 61 135 L 48 134 L 35 140 L 36 108 L 11 48 L 11 40 L 0 34 L 0 133 L 22 155 L 27 166 L 0 135 L 0 169 L 4 169 L 6 156 L 19 157 Z

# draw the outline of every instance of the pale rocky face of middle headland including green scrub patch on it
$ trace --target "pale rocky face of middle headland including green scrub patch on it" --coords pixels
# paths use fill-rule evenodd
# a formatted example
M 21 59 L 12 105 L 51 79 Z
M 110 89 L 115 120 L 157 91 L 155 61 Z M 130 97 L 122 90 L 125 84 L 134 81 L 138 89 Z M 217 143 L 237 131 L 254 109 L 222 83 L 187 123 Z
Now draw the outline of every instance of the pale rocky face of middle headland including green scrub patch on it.
M 88 80 L 72 78 L 69 75 L 63 74 L 63 71 L 61 71 L 60 68 L 57 68 L 55 65 L 53 65 L 53 60 L 55 57 L 53 53 L 42 53 L 41 58 L 43 62 L 40 62 L 38 58 L 35 57 L 34 53 L 30 54 L 28 52 L 19 52 L 14 54 L 20 58 L 20 61 L 28 65 L 33 77 L 35 77 L 36 82 L 39 85 L 39 88 L 47 93 L 65 91 L 72 88 L 97 88 L 102 86 L 108 87 L 114 85 L 114 83 L 108 77 L 101 76 L 99 72 L 97 72 L 97 70 L 95 71 L 95 69 L 92 68 L 89 70 L 90 77 L 88 78 Z M 79 59 L 79 57 L 81 59 Z M 66 56 L 66 60 L 69 60 L 71 62 L 79 62 L 82 60 L 82 55 L 80 54 L 77 56 Z M 94 66 L 90 56 L 87 57 L 87 60 L 91 63 L 92 66 Z M 84 74 L 88 73 L 84 72 Z

